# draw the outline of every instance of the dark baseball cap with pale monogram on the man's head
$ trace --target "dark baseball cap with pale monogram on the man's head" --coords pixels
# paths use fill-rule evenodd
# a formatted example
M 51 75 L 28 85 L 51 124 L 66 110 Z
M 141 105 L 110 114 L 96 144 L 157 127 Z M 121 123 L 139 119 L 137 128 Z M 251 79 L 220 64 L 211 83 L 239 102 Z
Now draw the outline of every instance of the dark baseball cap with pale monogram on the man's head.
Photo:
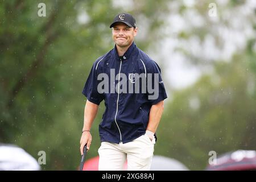
M 123 22 L 123 23 L 127 24 L 127 26 L 129 26 L 129 27 L 136 28 L 136 20 L 129 13 L 119 13 L 118 15 L 116 15 L 113 20 L 113 23 L 110 24 L 110 28 L 112 28 L 114 26 L 114 24 L 117 22 Z

